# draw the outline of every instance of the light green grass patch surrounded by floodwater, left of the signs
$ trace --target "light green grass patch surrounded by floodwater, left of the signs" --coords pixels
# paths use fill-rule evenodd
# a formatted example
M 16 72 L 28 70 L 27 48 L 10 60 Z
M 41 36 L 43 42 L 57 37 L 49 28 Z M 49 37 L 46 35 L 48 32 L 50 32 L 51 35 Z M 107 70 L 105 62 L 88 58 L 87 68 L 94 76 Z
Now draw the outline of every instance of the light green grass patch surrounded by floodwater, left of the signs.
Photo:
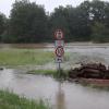
M 53 61 L 53 52 L 34 49 L 0 49 L 1 65 L 43 65 Z

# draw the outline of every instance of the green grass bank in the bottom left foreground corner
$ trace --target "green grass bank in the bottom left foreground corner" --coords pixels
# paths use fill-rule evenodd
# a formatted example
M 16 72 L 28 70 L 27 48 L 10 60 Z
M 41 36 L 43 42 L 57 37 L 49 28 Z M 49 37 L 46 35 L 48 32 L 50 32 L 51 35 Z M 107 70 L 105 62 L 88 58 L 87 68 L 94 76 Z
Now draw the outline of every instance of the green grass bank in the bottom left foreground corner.
M 50 109 L 43 100 L 35 101 L 0 90 L 0 109 Z

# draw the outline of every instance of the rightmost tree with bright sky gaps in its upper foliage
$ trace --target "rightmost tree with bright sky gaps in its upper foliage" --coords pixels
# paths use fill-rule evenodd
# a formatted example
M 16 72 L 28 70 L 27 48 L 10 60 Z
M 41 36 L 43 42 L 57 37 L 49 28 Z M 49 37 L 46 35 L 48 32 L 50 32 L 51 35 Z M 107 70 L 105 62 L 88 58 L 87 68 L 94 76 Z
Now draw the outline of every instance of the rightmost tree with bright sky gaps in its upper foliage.
M 92 40 L 96 43 L 109 41 L 109 3 L 93 0 L 90 5 Z

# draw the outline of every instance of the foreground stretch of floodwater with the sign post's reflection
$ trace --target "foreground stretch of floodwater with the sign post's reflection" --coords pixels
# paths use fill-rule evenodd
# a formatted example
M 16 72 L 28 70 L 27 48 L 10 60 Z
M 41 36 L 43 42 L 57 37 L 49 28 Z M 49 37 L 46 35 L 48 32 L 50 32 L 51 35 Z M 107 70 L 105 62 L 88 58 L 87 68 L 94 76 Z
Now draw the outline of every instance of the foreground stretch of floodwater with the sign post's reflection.
M 0 88 L 27 98 L 45 99 L 53 109 L 109 109 L 109 92 L 60 83 L 52 77 L 23 74 L 12 69 L 0 71 Z

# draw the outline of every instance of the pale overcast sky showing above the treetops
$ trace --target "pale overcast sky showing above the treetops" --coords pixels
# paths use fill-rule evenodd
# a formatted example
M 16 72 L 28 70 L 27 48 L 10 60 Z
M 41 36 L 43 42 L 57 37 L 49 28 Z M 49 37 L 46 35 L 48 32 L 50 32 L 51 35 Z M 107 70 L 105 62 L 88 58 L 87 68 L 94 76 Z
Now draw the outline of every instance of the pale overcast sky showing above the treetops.
M 10 14 L 12 9 L 12 3 L 15 0 L 0 0 L 0 12 L 4 13 L 7 16 Z M 55 8 L 59 5 L 65 7 L 66 4 L 72 4 L 73 7 L 78 5 L 84 0 L 29 0 L 35 1 L 37 4 L 44 4 L 46 11 L 52 12 Z M 109 0 L 102 0 L 109 1 Z

